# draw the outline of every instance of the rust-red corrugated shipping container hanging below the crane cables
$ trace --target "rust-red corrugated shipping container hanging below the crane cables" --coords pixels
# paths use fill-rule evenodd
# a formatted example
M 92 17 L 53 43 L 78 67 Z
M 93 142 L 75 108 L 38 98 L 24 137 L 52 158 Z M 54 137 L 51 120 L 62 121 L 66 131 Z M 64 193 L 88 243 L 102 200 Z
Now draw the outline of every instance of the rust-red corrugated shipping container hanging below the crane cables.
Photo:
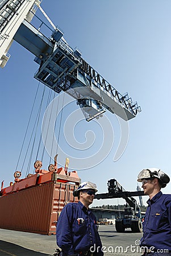
M 42 184 L 0 198 L 0 228 L 40 234 L 55 234 L 56 221 L 73 197 L 76 185 Z

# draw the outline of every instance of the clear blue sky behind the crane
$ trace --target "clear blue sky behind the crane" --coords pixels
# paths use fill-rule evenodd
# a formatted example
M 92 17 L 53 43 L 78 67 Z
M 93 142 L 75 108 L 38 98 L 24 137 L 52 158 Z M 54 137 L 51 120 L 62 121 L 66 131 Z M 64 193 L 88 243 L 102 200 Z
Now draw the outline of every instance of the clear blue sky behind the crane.
M 171 2 L 52 0 L 49 5 L 49 1 L 44 0 L 41 7 L 52 22 L 64 31 L 64 38 L 69 45 L 72 48 L 77 46 L 87 63 L 120 93 L 128 92 L 142 109 L 136 118 L 128 122 L 129 138 L 126 150 L 115 162 L 113 159 L 120 140 L 120 122 L 115 115 L 106 113 L 106 118 L 114 131 L 114 137 L 109 133 L 106 139 L 110 141 L 114 138 L 114 144 L 109 155 L 95 167 L 79 170 L 80 167 L 76 166 L 75 169 L 78 169 L 82 181 L 90 180 L 97 183 L 99 192 L 102 193 L 107 192 L 107 180 L 115 178 L 125 189 L 135 191 L 137 174 L 143 168 L 161 168 L 170 175 Z M 43 17 L 39 10 L 37 15 Z M 39 68 L 34 62 L 34 56 L 19 44 L 14 42 L 9 52 L 10 60 L 6 67 L 0 70 L 0 177 L 1 180 L 5 180 L 6 186 L 13 181 L 13 173 L 38 86 L 34 73 Z M 43 85 L 39 85 L 37 109 L 42 91 Z M 48 93 L 47 89 L 45 97 L 48 97 Z M 53 98 L 53 95 L 51 97 Z M 71 107 L 64 108 L 62 128 L 70 109 L 74 112 L 78 107 L 72 102 Z M 32 125 L 33 123 L 34 121 L 31 122 Z M 75 159 L 77 154 L 80 158 L 91 156 L 99 150 L 100 144 L 103 145 L 103 129 L 97 122 L 87 123 L 82 120 L 73 130 L 80 143 L 85 143 L 85 134 L 88 130 L 93 131 L 94 135 L 90 132 L 90 139 L 95 136 L 95 141 L 89 150 L 74 152 L 60 134 L 60 145 L 64 148 L 66 156 L 73 154 Z M 29 132 L 31 134 L 31 129 Z M 40 135 L 39 130 L 38 137 Z M 29 139 L 28 133 L 27 143 Z M 26 151 L 26 147 L 24 150 Z M 23 158 L 24 152 L 22 160 Z M 65 163 L 65 158 L 60 161 Z M 43 168 L 47 169 L 48 164 L 49 157 L 45 154 Z M 22 161 L 18 170 L 21 166 Z M 23 175 L 27 167 L 24 168 Z M 31 168 L 30 172 L 32 170 Z M 163 189 L 164 193 L 171 192 L 170 184 Z M 117 203 L 118 200 L 101 200 L 94 201 L 93 205 Z

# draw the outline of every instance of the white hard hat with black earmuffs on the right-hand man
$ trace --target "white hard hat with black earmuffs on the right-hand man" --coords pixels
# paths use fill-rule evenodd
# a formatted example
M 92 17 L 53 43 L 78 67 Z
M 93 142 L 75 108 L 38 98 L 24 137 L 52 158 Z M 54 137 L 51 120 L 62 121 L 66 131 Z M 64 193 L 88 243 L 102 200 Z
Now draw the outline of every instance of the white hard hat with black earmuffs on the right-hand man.
M 137 176 L 137 181 L 141 182 L 143 179 L 155 179 L 155 177 L 160 180 L 162 188 L 165 188 L 166 184 L 170 181 L 169 176 L 158 168 L 143 169 Z

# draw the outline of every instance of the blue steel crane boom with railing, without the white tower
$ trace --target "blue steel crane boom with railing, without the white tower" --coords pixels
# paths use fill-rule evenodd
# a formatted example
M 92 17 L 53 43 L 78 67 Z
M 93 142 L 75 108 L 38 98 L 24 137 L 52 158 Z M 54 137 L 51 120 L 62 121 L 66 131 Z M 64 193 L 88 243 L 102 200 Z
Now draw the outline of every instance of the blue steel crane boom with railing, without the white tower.
M 141 111 L 137 102 L 132 103 L 127 93 L 122 95 L 113 88 L 81 58 L 78 50 L 69 47 L 62 35 L 56 29 L 48 39 L 26 20 L 23 21 L 14 40 L 36 56 L 35 61 L 40 67 L 34 77 L 55 92 L 63 90 L 76 98 L 77 104 L 85 110 L 84 114 L 88 109 L 87 121 L 104 113 L 105 109 L 126 121 L 134 118 Z M 84 101 L 85 97 L 92 101 Z

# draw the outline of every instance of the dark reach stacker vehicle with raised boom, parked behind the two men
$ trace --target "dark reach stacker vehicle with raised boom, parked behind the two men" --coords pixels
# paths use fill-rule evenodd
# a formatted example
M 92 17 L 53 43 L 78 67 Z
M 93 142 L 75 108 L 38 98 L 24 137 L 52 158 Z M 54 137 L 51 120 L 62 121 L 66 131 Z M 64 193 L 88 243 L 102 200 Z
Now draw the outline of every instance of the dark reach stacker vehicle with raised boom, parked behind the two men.
M 95 199 L 111 199 L 123 198 L 127 205 L 124 209 L 124 218 L 117 218 L 115 220 L 116 232 L 124 232 L 125 229 L 131 228 L 132 232 L 139 233 L 143 231 L 141 223 L 141 211 L 136 200 L 132 196 L 144 196 L 144 191 L 126 191 L 122 185 L 115 179 L 111 179 L 107 183 L 108 193 L 95 195 Z

